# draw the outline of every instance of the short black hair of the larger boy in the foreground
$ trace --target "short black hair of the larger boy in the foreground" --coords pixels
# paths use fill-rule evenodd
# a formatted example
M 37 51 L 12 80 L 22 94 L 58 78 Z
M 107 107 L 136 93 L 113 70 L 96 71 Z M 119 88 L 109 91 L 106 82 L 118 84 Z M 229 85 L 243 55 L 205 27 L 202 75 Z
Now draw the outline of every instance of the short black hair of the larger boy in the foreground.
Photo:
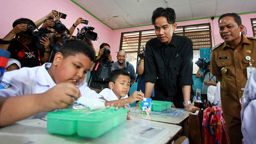
M 71 39 L 67 41 L 59 48 L 59 52 L 64 58 L 70 55 L 75 56 L 78 53 L 82 53 L 89 57 L 91 61 L 95 60 L 95 53 L 92 48 L 85 41 L 80 39 Z

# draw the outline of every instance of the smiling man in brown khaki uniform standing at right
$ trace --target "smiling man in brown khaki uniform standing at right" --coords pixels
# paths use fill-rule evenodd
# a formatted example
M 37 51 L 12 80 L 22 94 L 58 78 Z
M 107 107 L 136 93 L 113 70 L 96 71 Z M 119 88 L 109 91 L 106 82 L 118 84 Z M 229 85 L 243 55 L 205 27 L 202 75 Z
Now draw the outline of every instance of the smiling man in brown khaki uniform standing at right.
M 244 26 L 238 14 L 223 14 L 218 23 L 220 36 L 225 42 L 212 48 L 211 73 L 220 80 L 221 105 L 230 141 L 241 143 L 239 99 L 247 82 L 249 60 L 245 57 L 250 56 L 252 66 L 256 67 L 256 38 L 241 34 Z

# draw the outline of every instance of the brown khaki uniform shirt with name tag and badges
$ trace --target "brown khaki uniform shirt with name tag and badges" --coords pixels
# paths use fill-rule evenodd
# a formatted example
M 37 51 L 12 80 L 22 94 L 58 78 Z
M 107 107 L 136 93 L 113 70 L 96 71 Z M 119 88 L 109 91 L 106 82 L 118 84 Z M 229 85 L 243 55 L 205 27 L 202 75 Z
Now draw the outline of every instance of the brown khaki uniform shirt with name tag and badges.
M 239 99 L 243 96 L 243 90 L 247 82 L 247 70 L 251 57 L 253 67 L 256 67 L 256 38 L 242 35 L 242 43 L 236 49 L 228 43 L 221 43 L 213 47 L 211 55 L 211 73 L 220 78 L 220 97 L 222 110 L 226 114 L 240 117 L 241 105 Z M 226 73 L 222 68 L 226 68 Z M 225 69 L 224 68 L 224 69 Z

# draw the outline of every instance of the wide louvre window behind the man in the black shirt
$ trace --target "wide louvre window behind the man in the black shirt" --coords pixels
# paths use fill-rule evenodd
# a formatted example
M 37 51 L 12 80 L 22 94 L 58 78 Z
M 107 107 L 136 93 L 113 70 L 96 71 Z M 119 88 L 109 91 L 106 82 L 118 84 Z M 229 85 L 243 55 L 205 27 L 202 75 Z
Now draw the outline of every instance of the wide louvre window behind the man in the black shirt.
M 194 51 L 212 47 L 210 23 L 177 26 L 174 33 L 191 39 Z M 139 60 L 138 54 L 143 51 L 142 47 L 145 47 L 146 42 L 155 37 L 154 29 L 121 33 L 119 50 L 126 51 L 126 60 L 133 64 L 135 71 Z

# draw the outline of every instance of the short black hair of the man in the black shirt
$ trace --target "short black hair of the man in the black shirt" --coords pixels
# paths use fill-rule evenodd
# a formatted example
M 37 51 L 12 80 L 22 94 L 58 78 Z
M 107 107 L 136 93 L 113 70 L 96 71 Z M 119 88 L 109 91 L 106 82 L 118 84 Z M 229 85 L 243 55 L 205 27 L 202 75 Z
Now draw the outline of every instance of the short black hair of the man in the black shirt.
M 158 18 L 158 17 L 161 17 L 161 16 L 166 17 L 169 24 L 174 24 L 175 23 L 176 14 L 175 14 L 174 9 L 169 8 L 169 7 L 165 8 L 165 9 L 162 8 L 162 7 L 156 8 L 153 11 L 153 14 L 152 14 L 152 18 L 151 18 L 152 24 L 154 25 L 155 24 L 155 19 Z

